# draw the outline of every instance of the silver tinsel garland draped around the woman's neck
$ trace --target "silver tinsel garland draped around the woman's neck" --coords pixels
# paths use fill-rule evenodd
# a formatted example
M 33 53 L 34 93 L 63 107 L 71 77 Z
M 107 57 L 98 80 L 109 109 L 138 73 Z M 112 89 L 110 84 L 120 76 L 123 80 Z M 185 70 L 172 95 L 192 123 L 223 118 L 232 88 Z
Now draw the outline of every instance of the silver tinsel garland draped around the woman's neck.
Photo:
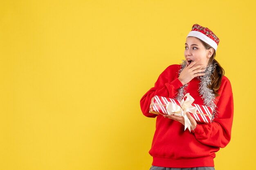
M 181 63 L 181 68 L 178 72 L 179 76 L 185 67 L 186 67 L 186 60 L 183 60 L 183 62 Z M 216 98 L 213 93 L 213 89 L 208 88 L 208 85 L 211 84 L 211 75 L 213 74 L 215 68 L 216 68 L 216 63 L 211 63 L 206 67 L 204 71 L 205 74 L 203 76 L 198 76 L 198 78 L 200 79 L 198 92 L 202 100 L 204 101 L 204 105 L 213 108 L 212 120 L 217 116 L 216 104 L 214 102 Z M 178 94 L 175 97 L 177 100 L 181 101 L 184 98 L 186 94 L 186 88 L 188 86 L 189 86 L 189 83 L 179 88 Z

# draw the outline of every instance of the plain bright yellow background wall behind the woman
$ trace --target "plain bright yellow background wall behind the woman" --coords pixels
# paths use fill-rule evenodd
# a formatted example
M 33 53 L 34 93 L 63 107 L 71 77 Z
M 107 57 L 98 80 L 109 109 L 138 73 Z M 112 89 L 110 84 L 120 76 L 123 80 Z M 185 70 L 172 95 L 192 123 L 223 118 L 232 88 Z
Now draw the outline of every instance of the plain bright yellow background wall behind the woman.
M 253 0 L 1 0 L 0 170 L 148 170 L 140 98 L 184 58 L 193 24 L 220 43 L 234 93 L 216 170 L 254 169 Z

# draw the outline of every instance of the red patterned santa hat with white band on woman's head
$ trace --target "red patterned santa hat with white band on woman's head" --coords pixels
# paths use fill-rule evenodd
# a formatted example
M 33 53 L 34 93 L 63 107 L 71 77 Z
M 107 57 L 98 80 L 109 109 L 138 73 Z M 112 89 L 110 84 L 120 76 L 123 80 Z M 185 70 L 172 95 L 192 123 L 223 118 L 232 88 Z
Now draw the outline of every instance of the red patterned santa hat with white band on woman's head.
M 217 50 L 220 40 L 218 37 L 209 29 L 198 24 L 192 26 L 192 30 L 189 32 L 187 37 L 197 37 L 202 41 L 209 44 L 214 50 Z

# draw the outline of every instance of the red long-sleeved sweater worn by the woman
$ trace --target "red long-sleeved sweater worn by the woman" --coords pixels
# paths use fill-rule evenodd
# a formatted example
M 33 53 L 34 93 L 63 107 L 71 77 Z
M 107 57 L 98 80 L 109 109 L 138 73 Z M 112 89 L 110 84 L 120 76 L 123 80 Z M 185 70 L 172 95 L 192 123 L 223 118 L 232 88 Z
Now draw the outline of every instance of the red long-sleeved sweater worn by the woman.
M 191 168 L 214 166 L 213 158 L 220 148 L 224 148 L 231 138 L 233 122 L 233 94 L 226 76 L 222 77 L 216 99 L 217 116 L 211 124 L 197 124 L 195 131 L 184 131 L 184 125 L 161 115 L 149 113 L 150 100 L 153 96 L 175 98 L 182 86 L 178 79 L 180 65 L 170 65 L 160 74 L 155 86 L 141 98 L 142 113 L 156 118 L 156 129 L 149 154 L 153 156 L 153 166 L 169 168 Z M 200 80 L 193 78 L 186 92 L 195 99 L 194 103 L 204 105 L 198 92 Z

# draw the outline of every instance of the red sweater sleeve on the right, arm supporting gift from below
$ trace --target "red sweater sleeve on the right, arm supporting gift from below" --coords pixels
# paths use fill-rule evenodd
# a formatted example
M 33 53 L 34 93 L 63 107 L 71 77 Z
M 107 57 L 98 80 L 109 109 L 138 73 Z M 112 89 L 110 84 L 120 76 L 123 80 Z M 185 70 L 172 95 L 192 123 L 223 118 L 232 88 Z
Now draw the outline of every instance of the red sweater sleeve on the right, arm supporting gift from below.
M 233 113 L 233 93 L 230 82 L 226 81 L 217 103 L 217 116 L 214 118 L 214 122 L 198 124 L 195 131 L 191 132 L 203 144 L 224 148 L 231 139 Z

